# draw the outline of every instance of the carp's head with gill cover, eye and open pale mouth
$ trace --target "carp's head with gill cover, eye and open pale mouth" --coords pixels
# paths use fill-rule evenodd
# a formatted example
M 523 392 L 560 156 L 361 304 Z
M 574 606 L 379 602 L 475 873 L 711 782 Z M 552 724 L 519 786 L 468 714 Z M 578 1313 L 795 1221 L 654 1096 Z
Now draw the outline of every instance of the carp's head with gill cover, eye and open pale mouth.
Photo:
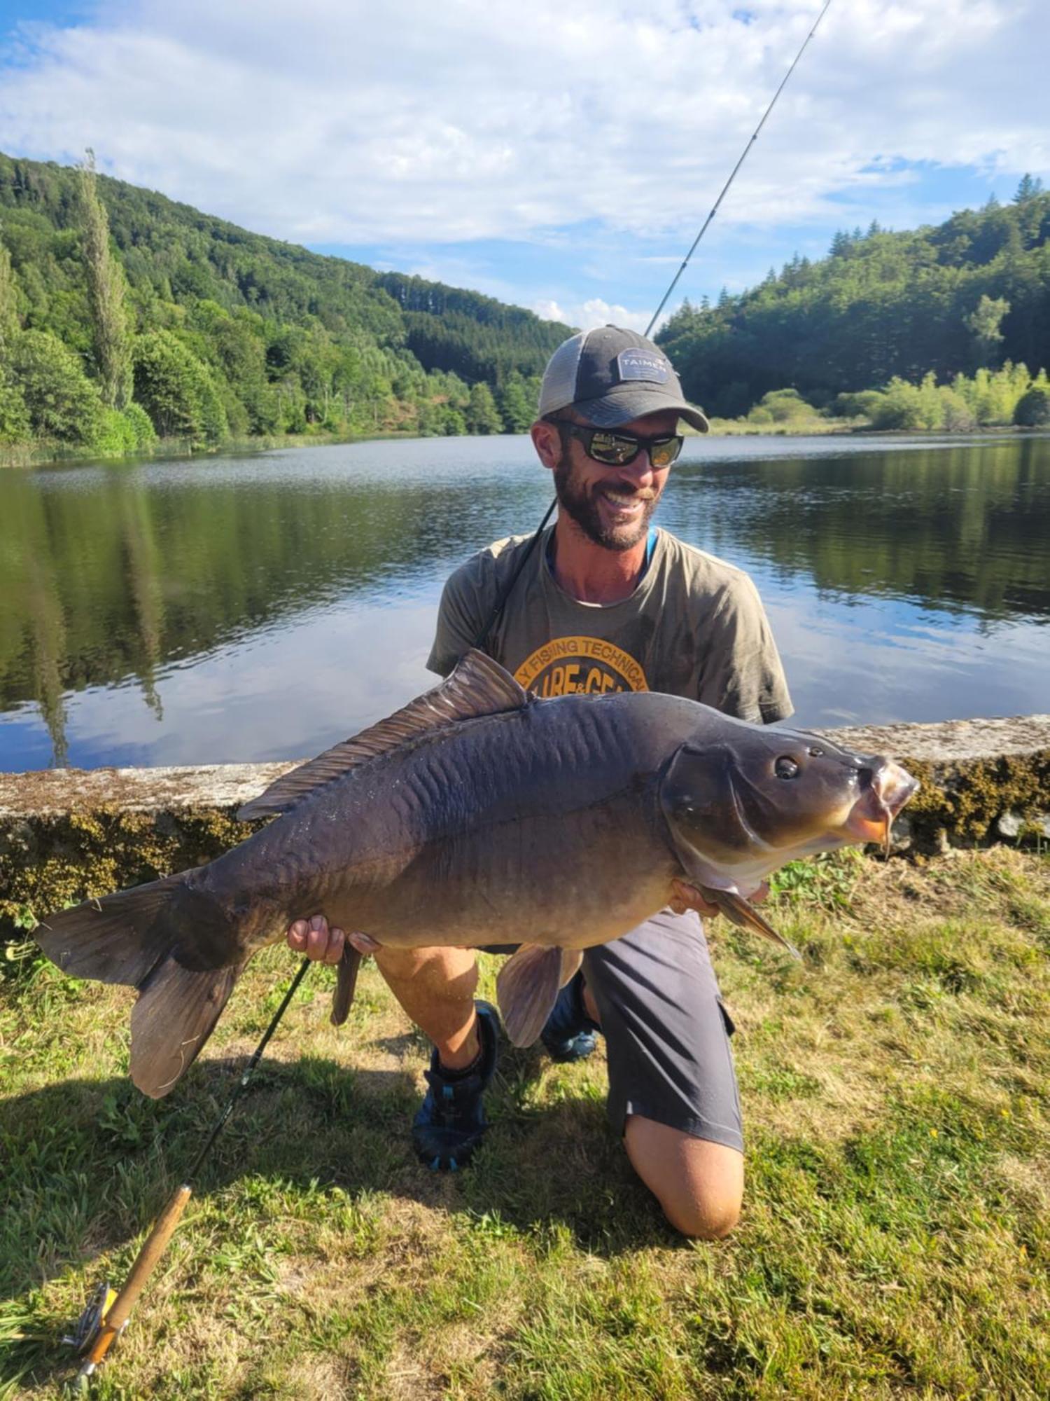
M 750 883 L 850 842 L 888 846 L 917 787 L 881 755 L 802 730 L 741 726 L 715 743 L 682 744 L 664 769 L 659 800 L 686 869 L 724 885 L 727 876 Z

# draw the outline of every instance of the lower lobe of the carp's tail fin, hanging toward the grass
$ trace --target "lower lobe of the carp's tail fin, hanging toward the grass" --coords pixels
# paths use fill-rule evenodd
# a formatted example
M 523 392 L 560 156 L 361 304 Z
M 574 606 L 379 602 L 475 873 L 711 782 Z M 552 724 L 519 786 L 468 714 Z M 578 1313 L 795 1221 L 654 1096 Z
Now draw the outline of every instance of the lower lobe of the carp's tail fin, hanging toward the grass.
M 168 954 L 141 984 L 132 1012 L 132 1079 L 158 1100 L 197 1058 L 244 964 L 195 971 Z

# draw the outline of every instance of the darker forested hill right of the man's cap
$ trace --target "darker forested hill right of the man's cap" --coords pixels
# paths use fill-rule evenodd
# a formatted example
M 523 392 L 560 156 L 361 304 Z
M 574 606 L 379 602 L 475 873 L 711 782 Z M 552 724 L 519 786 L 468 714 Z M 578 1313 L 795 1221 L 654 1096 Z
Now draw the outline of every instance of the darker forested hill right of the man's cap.
M 689 398 L 727 417 L 792 387 L 834 395 L 1023 361 L 1050 368 L 1050 193 L 1026 177 L 938 227 L 836 235 L 741 296 L 678 311 L 658 340 Z

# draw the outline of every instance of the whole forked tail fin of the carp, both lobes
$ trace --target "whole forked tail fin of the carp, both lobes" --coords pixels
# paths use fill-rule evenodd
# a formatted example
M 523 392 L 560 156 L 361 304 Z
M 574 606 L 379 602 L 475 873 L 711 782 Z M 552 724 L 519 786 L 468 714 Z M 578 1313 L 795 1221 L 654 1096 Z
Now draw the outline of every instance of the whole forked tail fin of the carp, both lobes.
M 182 876 L 85 899 L 48 916 L 34 939 L 74 978 L 139 989 L 132 1079 L 154 1098 L 193 1062 L 245 962 L 234 961 L 238 946 L 228 913 Z

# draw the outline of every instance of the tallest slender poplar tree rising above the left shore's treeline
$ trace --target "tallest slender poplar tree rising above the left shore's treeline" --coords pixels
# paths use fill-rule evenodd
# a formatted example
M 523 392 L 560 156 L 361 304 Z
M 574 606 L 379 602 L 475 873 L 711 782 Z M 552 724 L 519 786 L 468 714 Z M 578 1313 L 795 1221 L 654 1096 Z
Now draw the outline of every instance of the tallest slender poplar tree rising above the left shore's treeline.
M 95 153 L 88 149 L 80 167 L 80 207 L 84 220 L 84 266 L 94 331 L 95 364 L 102 401 L 122 409 L 132 396 L 132 336 L 125 307 L 126 282 L 109 249 L 109 219 L 98 198 Z

